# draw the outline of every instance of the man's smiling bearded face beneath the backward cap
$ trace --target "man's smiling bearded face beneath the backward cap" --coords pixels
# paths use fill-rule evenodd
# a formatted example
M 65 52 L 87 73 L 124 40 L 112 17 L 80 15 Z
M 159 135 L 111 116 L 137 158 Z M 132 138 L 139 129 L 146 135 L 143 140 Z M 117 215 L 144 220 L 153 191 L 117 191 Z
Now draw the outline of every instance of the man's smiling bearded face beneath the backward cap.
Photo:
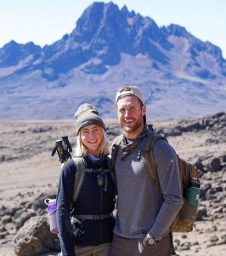
M 140 106 L 136 96 L 124 96 L 117 102 L 117 115 L 119 123 L 128 138 L 137 137 L 144 128 L 144 114 L 146 107 Z

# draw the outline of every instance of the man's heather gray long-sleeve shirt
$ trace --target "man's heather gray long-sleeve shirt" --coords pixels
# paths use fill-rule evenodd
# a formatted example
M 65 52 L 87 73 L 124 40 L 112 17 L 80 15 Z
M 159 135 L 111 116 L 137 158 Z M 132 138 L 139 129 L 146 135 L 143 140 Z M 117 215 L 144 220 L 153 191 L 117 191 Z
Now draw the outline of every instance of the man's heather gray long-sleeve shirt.
M 172 220 L 183 205 L 178 160 L 167 141 L 157 140 L 153 153 L 159 182 L 153 181 L 145 166 L 144 156 L 138 155 L 145 143 L 144 137 L 123 160 L 121 148 L 117 153 L 118 199 L 114 232 L 126 238 L 144 238 L 150 233 L 155 239 L 161 239 L 169 233 Z

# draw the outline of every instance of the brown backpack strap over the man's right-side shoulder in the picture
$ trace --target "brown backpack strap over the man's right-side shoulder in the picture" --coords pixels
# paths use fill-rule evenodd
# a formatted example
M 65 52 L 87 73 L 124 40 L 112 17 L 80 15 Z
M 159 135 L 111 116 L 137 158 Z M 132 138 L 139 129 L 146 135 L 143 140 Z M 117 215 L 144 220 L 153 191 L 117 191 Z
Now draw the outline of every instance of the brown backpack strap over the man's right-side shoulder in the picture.
M 156 181 L 158 179 L 158 174 L 157 174 L 157 166 L 156 166 L 155 158 L 154 158 L 154 154 L 153 154 L 153 148 L 154 148 L 155 142 L 158 139 L 167 140 L 166 137 L 163 137 L 161 135 L 154 133 L 154 134 L 150 135 L 150 137 L 148 138 L 146 146 L 144 147 L 144 150 L 143 150 L 145 164 L 150 172 L 150 177 L 154 181 Z

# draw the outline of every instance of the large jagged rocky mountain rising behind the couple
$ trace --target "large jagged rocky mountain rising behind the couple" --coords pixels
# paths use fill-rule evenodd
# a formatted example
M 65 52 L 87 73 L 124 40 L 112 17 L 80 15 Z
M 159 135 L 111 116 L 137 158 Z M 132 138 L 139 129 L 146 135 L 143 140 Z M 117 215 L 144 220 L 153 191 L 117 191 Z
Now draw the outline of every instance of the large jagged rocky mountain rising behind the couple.
M 111 2 L 90 5 L 54 44 L 11 41 L 0 49 L 0 119 L 68 118 L 82 102 L 114 118 L 124 84 L 140 86 L 154 119 L 226 108 L 226 61 L 218 46 Z

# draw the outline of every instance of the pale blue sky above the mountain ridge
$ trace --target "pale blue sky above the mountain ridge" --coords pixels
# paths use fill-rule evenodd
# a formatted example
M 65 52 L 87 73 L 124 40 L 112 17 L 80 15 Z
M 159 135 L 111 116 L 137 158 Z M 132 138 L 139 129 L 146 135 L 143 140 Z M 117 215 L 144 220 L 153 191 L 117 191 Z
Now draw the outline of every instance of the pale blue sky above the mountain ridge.
M 97 1 L 109 3 L 110 1 Z M 185 26 L 195 37 L 210 41 L 226 58 L 225 0 L 114 0 L 120 8 L 149 16 L 158 26 Z M 91 0 L 5 0 L 0 3 L 0 47 L 10 40 L 52 44 L 70 33 Z

